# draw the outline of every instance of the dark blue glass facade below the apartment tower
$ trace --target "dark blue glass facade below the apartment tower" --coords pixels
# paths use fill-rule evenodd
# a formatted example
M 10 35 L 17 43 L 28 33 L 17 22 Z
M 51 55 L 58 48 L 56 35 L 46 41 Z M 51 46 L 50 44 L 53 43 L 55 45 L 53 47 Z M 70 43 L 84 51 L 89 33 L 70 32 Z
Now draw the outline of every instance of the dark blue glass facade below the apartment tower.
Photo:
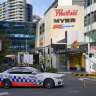
M 11 52 L 32 52 L 35 48 L 36 23 L 0 22 L 0 31 L 6 31 Z

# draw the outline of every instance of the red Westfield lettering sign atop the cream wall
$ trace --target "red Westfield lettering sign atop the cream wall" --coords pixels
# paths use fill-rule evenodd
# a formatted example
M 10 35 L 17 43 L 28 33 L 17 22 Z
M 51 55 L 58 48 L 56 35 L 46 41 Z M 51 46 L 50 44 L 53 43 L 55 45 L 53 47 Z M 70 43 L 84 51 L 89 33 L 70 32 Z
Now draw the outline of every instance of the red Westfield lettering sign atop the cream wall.
M 56 16 L 70 16 L 70 15 L 77 15 L 78 9 L 77 10 L 68 10 L 64 11 L 63 9 L 55 9 Z

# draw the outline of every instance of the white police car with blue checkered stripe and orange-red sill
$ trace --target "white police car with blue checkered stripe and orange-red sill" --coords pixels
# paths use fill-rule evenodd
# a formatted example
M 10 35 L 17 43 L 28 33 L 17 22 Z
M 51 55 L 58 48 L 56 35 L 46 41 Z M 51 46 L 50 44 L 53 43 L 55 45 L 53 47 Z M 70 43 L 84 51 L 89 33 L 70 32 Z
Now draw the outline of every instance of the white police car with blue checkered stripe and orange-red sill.
M 0 73 L 0 86 L 9 88 L 11 86 L 44 86 L 52 88 L 63 86 L 62 74 L 41 73 L 32 67 L 13 67 Z

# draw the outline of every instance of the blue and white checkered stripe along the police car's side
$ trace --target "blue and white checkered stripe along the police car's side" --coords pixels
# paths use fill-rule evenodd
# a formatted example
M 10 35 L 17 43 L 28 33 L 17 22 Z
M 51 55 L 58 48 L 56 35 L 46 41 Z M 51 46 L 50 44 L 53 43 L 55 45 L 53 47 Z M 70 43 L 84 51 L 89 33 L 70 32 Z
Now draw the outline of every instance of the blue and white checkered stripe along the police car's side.
M 36 84 L 43 84 L 41 80 L 35 80 L 30 78 L 18 77 L 18 76 L 10 76 L 10 80 L 16 81 L 16 82 L 30 82 L 30 83 L 36 83 Z

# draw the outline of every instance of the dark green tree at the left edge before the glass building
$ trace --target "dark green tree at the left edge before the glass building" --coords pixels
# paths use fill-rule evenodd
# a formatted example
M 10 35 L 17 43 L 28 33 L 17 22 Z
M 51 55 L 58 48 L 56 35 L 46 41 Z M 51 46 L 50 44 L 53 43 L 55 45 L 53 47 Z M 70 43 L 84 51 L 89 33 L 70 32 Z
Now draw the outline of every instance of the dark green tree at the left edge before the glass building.
M 0 40 L 2 40 L 2 50 L 0 51 L 0 62 L 4 60 L 4 57 L 9 53 L 8 38 L 5 31 L 0 31 Z M 0 63 L 1 65 L 1 63 Z

